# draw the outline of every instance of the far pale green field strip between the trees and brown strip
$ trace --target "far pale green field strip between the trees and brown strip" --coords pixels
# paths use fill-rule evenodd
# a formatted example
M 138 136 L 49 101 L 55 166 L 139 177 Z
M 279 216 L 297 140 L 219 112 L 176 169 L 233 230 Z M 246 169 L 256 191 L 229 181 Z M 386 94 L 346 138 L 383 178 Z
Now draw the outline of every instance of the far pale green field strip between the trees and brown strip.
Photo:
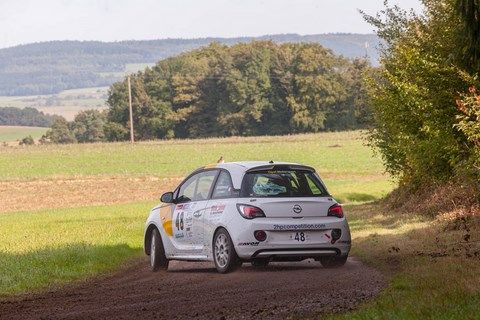
M 343 201 L 377 199 L 392 188 L 392 183 L 383 175 L 381 161 L 364 146 L 359 131 L 6 149 L 0 154 L 0 177 L 3 180 L 119 175 L 181 177 L 215 162 L 220 156 L 227 161 L 250 159 L 309 164 Z

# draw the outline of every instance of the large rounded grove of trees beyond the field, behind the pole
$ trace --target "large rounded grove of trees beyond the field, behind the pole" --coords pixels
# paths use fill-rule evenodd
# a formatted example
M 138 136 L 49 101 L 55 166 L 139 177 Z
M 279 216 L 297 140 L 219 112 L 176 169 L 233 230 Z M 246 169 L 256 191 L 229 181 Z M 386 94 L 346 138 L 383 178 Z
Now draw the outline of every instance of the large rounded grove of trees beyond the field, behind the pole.
M 365 60 L 318 44 L 218 43 L 132 76 L 137 139 L 363 128 Z M 127 82 L 112 85 L 105 136 L 128 138 Z

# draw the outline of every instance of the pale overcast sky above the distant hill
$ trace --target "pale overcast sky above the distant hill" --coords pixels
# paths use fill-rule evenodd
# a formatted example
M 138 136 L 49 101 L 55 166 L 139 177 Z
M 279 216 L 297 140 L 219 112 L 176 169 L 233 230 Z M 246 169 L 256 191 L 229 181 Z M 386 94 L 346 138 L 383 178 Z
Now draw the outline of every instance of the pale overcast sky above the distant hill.
M 391 0 L 421 11 L 419 0 Z M 50 40 L 371 33 L 383 0 L 0 0 L 0 48 Z

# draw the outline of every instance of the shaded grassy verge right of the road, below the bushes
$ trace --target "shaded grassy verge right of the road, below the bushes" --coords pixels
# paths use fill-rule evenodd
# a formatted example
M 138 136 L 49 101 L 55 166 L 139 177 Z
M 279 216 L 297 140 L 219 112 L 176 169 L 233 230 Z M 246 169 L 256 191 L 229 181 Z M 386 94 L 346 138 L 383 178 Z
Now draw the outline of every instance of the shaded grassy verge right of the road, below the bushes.
M 348 209 L 352 254 L 390 284 L 341 319 L 478 319 L 478 214 L 428 218 L 392 213 L 379 203 Z

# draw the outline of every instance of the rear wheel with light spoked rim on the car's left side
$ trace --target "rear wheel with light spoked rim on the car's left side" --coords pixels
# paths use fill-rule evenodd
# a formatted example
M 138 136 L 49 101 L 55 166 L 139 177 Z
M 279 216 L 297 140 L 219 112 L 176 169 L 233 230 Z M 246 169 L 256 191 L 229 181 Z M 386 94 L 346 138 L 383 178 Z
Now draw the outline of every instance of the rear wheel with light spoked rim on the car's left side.
M 220 273 L 233 271 L 242 264 L 230 235 L 223 228 L 219 229 L 213 237 L 213 261 Z

